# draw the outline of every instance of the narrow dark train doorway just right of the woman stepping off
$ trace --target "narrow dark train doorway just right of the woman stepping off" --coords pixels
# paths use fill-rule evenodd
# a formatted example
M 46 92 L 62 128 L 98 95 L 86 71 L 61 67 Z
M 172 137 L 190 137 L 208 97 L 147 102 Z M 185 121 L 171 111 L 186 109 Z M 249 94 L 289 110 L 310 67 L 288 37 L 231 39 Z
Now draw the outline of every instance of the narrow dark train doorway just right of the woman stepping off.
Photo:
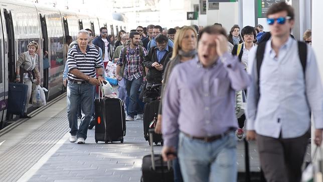
M 43 69 L 44 69 L 44 80 L 43 87 L 48 88 L 48 78 L 49 78 L 49 60 L 48 60 L 48 34 L 47 34 L 47 24 L 45 15 L 39 14 L 41 27 L 42 27 L 42 37 L 43 37 Z

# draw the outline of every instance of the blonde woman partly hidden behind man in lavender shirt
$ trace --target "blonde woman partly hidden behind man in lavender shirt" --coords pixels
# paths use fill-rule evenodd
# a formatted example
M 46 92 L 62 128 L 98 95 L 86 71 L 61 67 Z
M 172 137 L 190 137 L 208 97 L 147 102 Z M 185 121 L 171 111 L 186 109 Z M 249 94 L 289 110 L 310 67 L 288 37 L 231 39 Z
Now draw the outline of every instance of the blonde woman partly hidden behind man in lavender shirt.
M 155 132 L 161 134 L 161 108 L 163 103 L 163 95 L 165 88 L 167 86 L 168 78 L 173 70 L 173 68 L 182 62 L 193 59 L 197 55 L 197 32 L 194 27 L 184 26 L 176 32 L 174 39 L 173 52 L 169 53 L 169 56 L 172 55 L 170 60 L 167 62 L 165 60 L 164 64 L 166 65 L 163 79 L 163 88 L 161 89 L 160 105 L 158 111 L 158 119 L 155 126 Z M 173 160 L 174 165 L 174 181 L 183 181 L 182 174 L 180 171 L 180 164 L 178 158 Z

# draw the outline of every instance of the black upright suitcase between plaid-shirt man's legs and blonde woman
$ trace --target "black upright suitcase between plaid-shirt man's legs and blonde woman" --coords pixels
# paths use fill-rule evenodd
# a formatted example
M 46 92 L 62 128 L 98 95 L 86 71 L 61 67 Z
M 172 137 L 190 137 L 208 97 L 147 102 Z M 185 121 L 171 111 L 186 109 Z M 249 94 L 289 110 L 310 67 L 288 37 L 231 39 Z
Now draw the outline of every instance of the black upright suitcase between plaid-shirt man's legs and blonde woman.
M 149 140 L 149 125 L 154 120 L 157 122 L 158 108 L 160 101 L 152 101 L 150 103 L 146 103 L 143 110 L 143 134 L 146 141 Z M 154 128 L 154 126 L 151 126 Z M 153 143 L 158 144 L 160 142 L 161 145 L 164 144 L 163 138 L 160 134 L 153 133 Z M 150 143 L 149 143 L 150 144 Z

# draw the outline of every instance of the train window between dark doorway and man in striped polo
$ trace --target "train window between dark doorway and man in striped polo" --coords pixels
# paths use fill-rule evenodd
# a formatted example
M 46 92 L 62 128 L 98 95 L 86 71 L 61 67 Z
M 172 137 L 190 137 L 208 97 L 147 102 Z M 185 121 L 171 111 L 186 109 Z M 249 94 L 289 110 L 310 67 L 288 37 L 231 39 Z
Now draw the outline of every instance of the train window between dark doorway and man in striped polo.
M 61 65 L 64 65 L 64 60 L 63 60 L 63 50 L 64 50 L 64 45 L 63 45 L 63 37 L 53 37 L 49 39 L 50 42 L 50 64 L 51 68 L 58 67 Z

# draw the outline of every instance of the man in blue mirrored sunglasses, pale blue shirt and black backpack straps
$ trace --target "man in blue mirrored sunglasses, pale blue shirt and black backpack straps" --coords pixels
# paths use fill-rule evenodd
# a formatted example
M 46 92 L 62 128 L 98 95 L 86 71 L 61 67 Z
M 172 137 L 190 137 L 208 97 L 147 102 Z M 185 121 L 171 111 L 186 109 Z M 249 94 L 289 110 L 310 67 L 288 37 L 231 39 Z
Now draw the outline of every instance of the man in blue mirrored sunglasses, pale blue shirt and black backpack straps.
M 257 140 L 267 181 L 300 181 L 310 113 L 316 128 L 314 143 L 319 146 L 322 140 L 321 80 L 311 47 L 289 36 L 292 7 L 274 4 L 267 22 L 271 39 L 249 53 L 253 82 L 247 93 L 247 139 Z M 304 52 L 307 56 L 302 56 Z

